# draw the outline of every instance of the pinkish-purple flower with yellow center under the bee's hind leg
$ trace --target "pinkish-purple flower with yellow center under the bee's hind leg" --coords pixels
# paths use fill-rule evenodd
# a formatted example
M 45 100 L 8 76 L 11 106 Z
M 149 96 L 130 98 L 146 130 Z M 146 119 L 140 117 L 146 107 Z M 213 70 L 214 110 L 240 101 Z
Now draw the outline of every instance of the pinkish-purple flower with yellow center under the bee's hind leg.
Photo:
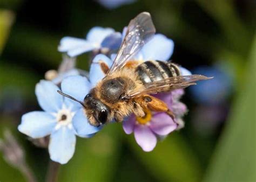
M 160 93 L 155 95 L 163 100 L 167 106 L 176 115 L 175 121 L 165 113 L 152 112 L 145 110 L 145 117 L 136 117 L 132 115 L 123 122 L 123 128 L 126 134 L 132 134 L 139 146 L 146 152 L 152 151 L 157 144 L 159 136 L 166 136 L 172 131 L 183 128 L 184 123 L 181 117 L 186 113 L 186 106 L 179 101 L 184 94 L 183 89 L 174 90 L 170 93 Z

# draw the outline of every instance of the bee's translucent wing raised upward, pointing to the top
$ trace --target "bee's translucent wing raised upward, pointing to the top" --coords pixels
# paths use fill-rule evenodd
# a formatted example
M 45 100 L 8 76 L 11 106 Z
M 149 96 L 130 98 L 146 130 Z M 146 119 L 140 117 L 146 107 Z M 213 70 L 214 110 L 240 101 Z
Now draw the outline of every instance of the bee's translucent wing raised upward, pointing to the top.
M 156 33 L 156 29 L 153 25 L 150 13 L 142 12 L 132 19 L 127 27 L 123 43 L 107 74 L 111 74 L 117 69 L 122 68 L 126 61 L 152 38 L 154 33 Z

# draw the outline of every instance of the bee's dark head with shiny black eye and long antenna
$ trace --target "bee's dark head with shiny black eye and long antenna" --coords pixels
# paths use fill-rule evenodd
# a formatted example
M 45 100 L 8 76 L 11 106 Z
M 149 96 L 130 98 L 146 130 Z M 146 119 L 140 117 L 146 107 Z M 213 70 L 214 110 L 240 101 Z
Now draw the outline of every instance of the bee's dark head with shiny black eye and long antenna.
M 104 103 L 100 102 L 98 99 L 93 97 L 91 94 L 87 94 L 84 97 L 84 102 L 78 101 L 74 97 L 64 94 L 63 92 L 57 91 L 59 94 L 69 97 L 73 101 L 79 102 L 85 109 L 86 116 L 89 123 L 95 127 L 99 127 L 110 120 L 110 109 Z

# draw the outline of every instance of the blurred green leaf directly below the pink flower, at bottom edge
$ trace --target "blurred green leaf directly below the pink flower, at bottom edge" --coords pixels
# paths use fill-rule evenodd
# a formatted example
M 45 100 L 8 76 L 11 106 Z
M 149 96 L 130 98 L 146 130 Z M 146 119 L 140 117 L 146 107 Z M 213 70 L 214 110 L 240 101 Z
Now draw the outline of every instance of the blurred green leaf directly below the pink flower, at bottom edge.
M 134 138 L 130 144 L 144 166 L 159 181 L 199 181 L 201 166 L 180 134 L 173 133 L 158 142 L 152 152 L 144 152 Z

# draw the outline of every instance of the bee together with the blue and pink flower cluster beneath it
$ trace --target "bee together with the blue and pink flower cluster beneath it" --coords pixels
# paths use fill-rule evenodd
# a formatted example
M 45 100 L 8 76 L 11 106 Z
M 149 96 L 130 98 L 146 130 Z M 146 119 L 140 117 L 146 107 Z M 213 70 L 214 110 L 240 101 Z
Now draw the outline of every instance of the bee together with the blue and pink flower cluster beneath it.
M 120 48 L 114 59 L 97 54 L 87 77 L 68 70 L 53 82 L 39 82 L 36 95 L 44 111 L 23 115 L 19 131 L 32 138 L 50 135 L 50 157 L 61 164 L 73 156 L 76 136 L 92 137 L 113 121 L 124 121 L 125 132 L 134 131 L 142 149 L 153 150 L 158 136 L 184 126 L 183 88 L 209 79 L 167 61 L 173 41 L 155 31 L 150 14 L 143 12 L 124 29 L 123 38 L 101 27 L 91 29 L 86 40 L 63 38 L 58 50 L 70 57 Z

